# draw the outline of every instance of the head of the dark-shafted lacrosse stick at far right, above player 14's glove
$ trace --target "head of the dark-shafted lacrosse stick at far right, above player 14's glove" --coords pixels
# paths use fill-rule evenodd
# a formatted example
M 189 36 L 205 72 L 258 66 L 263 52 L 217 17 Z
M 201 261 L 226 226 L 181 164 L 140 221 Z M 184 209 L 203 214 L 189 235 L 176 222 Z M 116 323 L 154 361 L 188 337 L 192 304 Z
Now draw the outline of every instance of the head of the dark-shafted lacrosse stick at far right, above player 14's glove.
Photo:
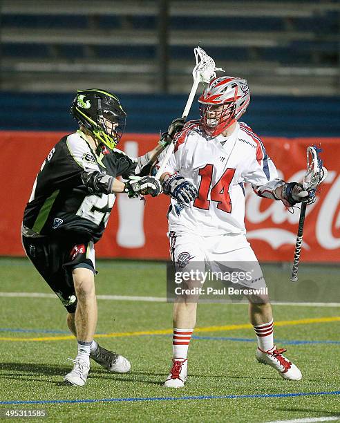
M 328 171 L 323 167 L 319 153 L 321 153 L 321 149 L 318 147 L 307 148 L 307 171 L 302 181 L 303 189 L 306 191 L 316 189 L 327 178 Z

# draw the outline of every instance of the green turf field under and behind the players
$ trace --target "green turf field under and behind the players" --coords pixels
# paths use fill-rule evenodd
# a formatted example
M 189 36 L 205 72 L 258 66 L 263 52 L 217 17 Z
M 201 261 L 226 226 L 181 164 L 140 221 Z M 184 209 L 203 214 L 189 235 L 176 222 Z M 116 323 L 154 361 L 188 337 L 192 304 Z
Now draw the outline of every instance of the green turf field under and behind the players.
M 97 294 L 165 297 L 162 263 L 99 261 L 97 267 Z M 264 273 L 289 283 L 287 267 L 266 266 Z M 325 269 L 301 267 L 305 280 L 316 274 L 322 277 Z M 337 270 L 327 274 L 339 280 Z M 1 293 L 50 293 L 26 259 L 0 259 L 0 277 Z M 97 340 L 128 357 L 132 370 L 112 375 L 94 363 L 86 386 L 77 388 L 62 383 L 72 365 L 67 358 L 77 353 L 62 303 L 0 294 L 2 409 L 45 409 L 45 420 L 56 422 L 272 422 L 337 415 L 340 421 L 340 308 L 274 306 L 277 344 L 303 373 L 301 381 L 290 382 L 257 363 L 252 328 L 230 327 L 248 323 L 247 306 L 200 304 L 189 379 L 185 388 L 169 390 L 162 382 L 171 361 L 172 305 L 108 299 L 98 304 Z

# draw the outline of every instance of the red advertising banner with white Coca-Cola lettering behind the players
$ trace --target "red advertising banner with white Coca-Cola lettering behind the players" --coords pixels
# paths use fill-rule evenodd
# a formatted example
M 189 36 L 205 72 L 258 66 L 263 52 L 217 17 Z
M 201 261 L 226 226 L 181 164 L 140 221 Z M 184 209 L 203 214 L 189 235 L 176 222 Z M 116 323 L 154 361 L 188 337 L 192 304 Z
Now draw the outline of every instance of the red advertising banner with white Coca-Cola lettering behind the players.
M 2 199 L 0 255 L 23 256 L 20 227 L 23 209 L 30 197 L 35 176 L 53 145 L 65 133 L 1 131 Z M 140 156 L 153 148 L 157 134 L 128 133 L 120 149 Z M 263 137 L 267 153 L 285 180 L 301 180 L 308 145 L 321 145 L 328 178 L 317 202 L 307 207 L 301 260 L 340 261 L 340 138 Z M 119 194 L 102 240 L 96 245 L 99 257 L 168 259 L 167 208 L 169 198 L 138 198 Z M 280 201 L 260 198 L 246 189 L 247 238 L 260 261 L 292 261 L 299 209 L 290 213 Z

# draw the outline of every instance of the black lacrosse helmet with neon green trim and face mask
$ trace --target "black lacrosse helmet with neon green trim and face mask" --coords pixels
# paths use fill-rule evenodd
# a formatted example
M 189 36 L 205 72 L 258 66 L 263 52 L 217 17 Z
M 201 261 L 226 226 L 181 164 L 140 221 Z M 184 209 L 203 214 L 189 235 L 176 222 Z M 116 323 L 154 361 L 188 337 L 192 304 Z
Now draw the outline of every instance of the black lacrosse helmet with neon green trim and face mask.
M 70 113 L 110 149 L 114 149 L 120 142 L 125 129 L 126 113 L 114 94 L 97 89 L 78 90 Z

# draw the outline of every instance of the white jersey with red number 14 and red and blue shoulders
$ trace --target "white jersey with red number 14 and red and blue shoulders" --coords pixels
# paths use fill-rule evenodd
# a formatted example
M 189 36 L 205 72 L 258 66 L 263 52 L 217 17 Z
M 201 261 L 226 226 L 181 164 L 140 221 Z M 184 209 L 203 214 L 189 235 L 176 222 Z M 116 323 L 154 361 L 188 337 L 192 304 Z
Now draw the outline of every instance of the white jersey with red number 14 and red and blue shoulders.
M 236 122 L 229 137 L 211 138 L 199 121 L 187 122 L 177 138 L 164 172 L 179 173 L 199 195 L 188 206 L 171 198 L 169 231 L 189 230 L 202 236 L 245 234 L 243 184 L 249 182 L 256 194 L 274 198 L 272 188 L 282 182 L 260 138 L 243 122 Z

